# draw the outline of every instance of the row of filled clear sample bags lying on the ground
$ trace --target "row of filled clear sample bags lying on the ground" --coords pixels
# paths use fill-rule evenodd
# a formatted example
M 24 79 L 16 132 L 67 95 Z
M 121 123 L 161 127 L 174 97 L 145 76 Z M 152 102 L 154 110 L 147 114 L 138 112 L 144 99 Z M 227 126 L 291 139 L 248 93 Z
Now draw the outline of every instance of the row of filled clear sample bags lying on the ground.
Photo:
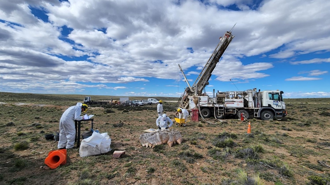
M 174 144 L 182 143 L 182 136 L 178 130 L 162 129 L 154 132 L 148 132 L 140 135 L 140 142 L 142 146 L 155 147 L 155 145 L 168 144 L 172 147 Z

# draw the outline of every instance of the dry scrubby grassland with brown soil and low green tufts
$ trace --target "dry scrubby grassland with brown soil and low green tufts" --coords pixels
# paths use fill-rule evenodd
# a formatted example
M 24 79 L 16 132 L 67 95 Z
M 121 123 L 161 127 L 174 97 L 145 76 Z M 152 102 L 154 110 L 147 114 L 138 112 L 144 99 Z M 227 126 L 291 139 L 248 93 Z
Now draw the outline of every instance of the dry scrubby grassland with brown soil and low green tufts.
M 83 96 L 0 95 L 0 102 L 7 103 L 0 104 L 0 184 L 330 183 L 329 98 L 286 99 L 289 115 L 284 120 L 249 119 L 249 135 L 248 121 L 208 119 L 214 125 L 191 121 L 186 127 L 173 127 L 182 134 L 181 145 L 154 148 L 142 147 L 139 136 L 156 128 L 156 105 L 93 107 L 88 114 L 96 115 L 94 129 L 108 132 L 112 150 L 84 158 L 78 149 L 69 150 L 67 164 L 51 170 L 44 160 L 57 142 L 47 141 L 44 135 L 57 132 L 64 110 Z M 171 118 L 176 106 L 163 104 Z M 119 122 L 123 125 L 115 127 Z M 89 123 L 82 125 L 85 129 L 90 129 Z M 126 150 L 125 157 L 112 158 L 115 150 Z

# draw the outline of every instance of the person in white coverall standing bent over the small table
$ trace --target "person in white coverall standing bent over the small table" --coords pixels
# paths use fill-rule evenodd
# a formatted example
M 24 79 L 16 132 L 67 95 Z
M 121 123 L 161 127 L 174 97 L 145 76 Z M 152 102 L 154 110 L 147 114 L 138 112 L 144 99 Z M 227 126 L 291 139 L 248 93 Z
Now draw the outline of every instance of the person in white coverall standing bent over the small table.
M 57 148 L 68 149 L 74 147 L 76 138 L 75 120 L 82 120 L 83 118 L 80 114 L 86 112 L 87 109 L 88 105 L 77 103 L 77 105 L 71 106 L 64 111 L 60 119 L 60 137 Z

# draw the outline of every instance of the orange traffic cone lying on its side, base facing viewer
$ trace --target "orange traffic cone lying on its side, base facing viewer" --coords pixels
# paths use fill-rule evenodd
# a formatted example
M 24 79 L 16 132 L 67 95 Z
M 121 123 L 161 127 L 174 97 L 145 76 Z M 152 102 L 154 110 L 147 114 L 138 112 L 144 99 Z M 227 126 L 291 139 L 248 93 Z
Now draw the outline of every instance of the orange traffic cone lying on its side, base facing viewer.
M 51 169 L 55 169 L 60 165 L 66 164 L 66 149 L 54 150 L 48 153 L 45 164 Z

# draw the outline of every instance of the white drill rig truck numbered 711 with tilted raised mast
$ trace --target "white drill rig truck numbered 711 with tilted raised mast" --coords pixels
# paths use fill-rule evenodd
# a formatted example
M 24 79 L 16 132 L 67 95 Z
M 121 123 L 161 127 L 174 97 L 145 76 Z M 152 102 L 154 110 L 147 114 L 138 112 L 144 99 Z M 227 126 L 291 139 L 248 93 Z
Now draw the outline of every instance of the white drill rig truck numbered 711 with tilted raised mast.
M 209 85 L 208 81 L 216 64 L 235 37 L 231 31 L 227 31 L 223 37 L 219 38 L 213 54 L 192 86 L 179 65 L 187 84 L 187 88 L 178 101 L 179 107 L 187 110 L 199 109 L 200 115 L 204 118 L 214 116 L 215 119 L 225 119 L 226 116 L 236 115 L 238 118 L 243 116 L 245 119 L 254 117 L 263 120 L 273 120 L 274 118 L 281 120 L 287 115 L 282 97 L 283 91 L 260 92 L 259 90 L 257 92 L 254 88 L 247 91 L 218 91 L 215 93 L 213 90 L 213 97 L 203 93 L 205 87 Z

